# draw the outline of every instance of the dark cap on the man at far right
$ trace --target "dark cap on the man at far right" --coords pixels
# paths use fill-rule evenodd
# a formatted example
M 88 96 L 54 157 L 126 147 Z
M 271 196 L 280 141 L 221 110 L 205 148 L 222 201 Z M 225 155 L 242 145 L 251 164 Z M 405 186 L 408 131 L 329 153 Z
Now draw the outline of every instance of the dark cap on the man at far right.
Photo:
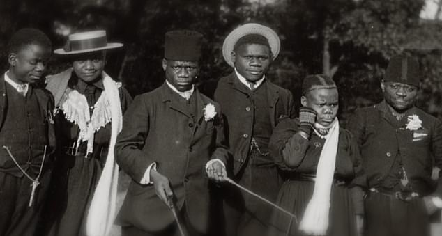
M 390 82 L 419 86 L 420 71 L 418 60 L 410 56 L 394 56 L 390 59 L 390 63 L 388 63 L 383 79 Z

